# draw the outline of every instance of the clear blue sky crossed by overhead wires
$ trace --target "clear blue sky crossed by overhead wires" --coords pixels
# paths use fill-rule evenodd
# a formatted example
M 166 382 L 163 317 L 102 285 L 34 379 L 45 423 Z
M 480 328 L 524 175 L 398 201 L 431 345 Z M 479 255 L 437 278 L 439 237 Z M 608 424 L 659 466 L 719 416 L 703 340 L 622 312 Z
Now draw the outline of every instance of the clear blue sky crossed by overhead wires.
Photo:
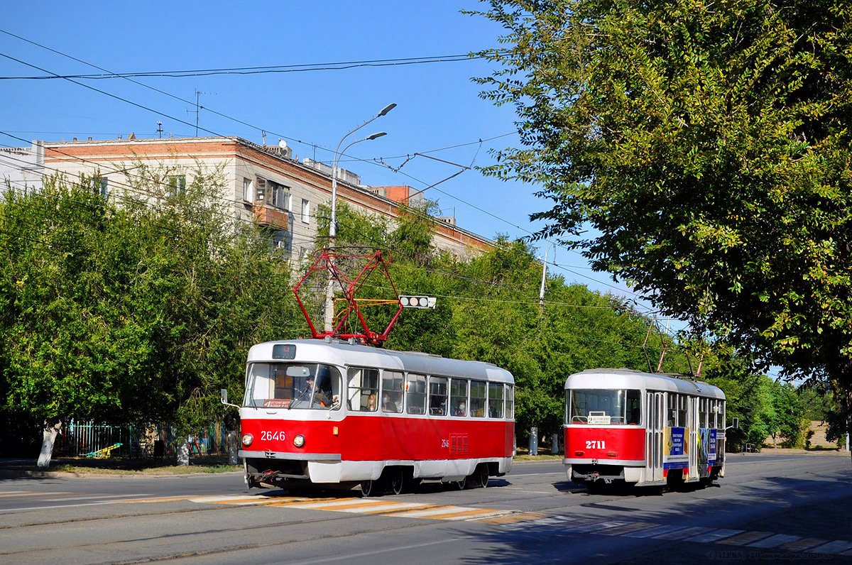
M 0 29 L 111 72 L 322 66 L 463 55 L 497 47 L 502 33 L 498 26 L 459 11 L 477 7 L 479 3 L 472 0 L 15 2 L 5 3 Z M 100 72 L 3 33 L 0 54 L 47 71 L 0 57 L 0 77 Z M 512 108 L 481 100 L 480 88 L 470 80 L 492 70 L 491 63 L 479 60 L 135 78 L 169 95 L 121 78 L 79 81 L 164 115 L 66 80 L 0 80 L 0 130 L 26 140 L 45 141 L 89 136 L 114 139 L 130 132 L 136 137 L 156 137 L 157 122 L 162 121 L 164 135 L 195 135 L 192 111 L 198 90 L 205 93 L 200 95 L 201 106 L 250 124 L 202 109 L 199 135 L 238 135 L 262 143 L 265 130 L 268 144 L 283 137 L 299 159 L 330 162 L 337 142 L 348 130 L 394 102 L 397 107 L 392 112 L 358 132 L 369 135 L 383 130 L 388 135 L 350 148 L 342 166 L 360 175 L 365 184 L 408 184 L 419 190 L 462 167 L 490 164 L 489 150 L 517 143 Z M 20 147 L 26 142 L 0 135 L 0 145 Z M 435 151 L 445 147 L 452 148 Z M 413 157 L 426 152 L 452 164 Z M 408 156 L 413 159 L 406 162 Z M 534 190 L 465 170 L 425 194 L 438 201 L 444 215 L 456 216 L 463 228 L 486 237 L 505 233 L 517 238 L 539 228 L 529 215 L 548 205 L 533 196 Z M 554 259 L 552 249 L 548 258 Z M 592 272 L 577 253 L 557 249 L 556 263 L 560 267 L 551 266 L 550 272 L 563 275 L 568 282 L 635 296 L 625 285 L 614 285 L 606 274 Z

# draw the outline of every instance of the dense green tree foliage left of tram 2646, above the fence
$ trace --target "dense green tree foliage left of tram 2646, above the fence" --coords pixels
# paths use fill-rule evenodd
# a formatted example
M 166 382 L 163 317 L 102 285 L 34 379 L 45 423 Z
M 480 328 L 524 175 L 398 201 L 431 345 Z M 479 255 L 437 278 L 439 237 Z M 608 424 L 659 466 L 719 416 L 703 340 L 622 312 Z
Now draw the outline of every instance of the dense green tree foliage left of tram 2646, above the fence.
M 250 345 L 293 326 L 289 268 L 234 221 L 221 170 L 181 191 L 135 172 L 110 199 L 85 177 L 0 199 L 3 412 L 191 430 L 219 389 L 239 398 Z

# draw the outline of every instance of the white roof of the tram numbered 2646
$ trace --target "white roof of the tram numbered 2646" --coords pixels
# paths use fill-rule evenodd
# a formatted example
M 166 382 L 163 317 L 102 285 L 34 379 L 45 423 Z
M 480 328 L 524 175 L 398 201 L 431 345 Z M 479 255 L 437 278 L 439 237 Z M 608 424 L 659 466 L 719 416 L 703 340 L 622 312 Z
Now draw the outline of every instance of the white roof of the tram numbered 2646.
M 439 377 L 464 377 L 496 383 L 514 383 L 512 373 L 484 361 L 448 359 L 414 351 L 395 351 L 367 345 L 351 344 L 333 339 L 288 339 L 257 343 L 249 349 L 249 363 L 286 362 L 273 359 L 273 345 L 288 343 L 296 346 L 296 362 L 330 363 L 338 366 L 374 367 L 391 371 L 408 371 Z

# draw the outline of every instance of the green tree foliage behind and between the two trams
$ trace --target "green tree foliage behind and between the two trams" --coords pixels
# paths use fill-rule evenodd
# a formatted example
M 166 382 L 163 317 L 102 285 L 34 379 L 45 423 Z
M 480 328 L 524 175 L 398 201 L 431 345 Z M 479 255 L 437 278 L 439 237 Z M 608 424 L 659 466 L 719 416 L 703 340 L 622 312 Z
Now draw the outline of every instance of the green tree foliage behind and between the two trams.
M 515 376 L 519 438 L 530 426 L 543 434 L 561 428 L 565 379 L 571 373 L 596 366 L 648 370 L 648 360 L 656 369 L 659 334 L 649 340 L 646 358 L 642 343 L 651 320 L 621 299 L 551 276 L 543 311 L 538 303 L 542 265 L 529 244 L 498 236 L 492 251 L 458 261 L 426 237 L 434 221 L 425 211 L 412 209 L 399 222 L 389 222 L 338 206 L 337 244 L 389 251 L 400 294 L 437 298 L 435 310 L 405 310 L 387 347 L 486 361 Z M 371 287 L 363 296 L 371 296 Z M 686 372 L 688 361 L 672 348 L 663 370 Z

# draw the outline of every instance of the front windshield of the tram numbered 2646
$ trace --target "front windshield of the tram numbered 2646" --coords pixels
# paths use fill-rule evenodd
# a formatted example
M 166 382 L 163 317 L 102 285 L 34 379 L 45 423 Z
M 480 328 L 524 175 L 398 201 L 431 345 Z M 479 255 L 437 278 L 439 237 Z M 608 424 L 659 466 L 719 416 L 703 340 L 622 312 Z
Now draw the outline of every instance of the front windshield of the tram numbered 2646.
M 337 367 L 321 363 L 251 363 L 243 406 L 256 408 L 340 408 Z

